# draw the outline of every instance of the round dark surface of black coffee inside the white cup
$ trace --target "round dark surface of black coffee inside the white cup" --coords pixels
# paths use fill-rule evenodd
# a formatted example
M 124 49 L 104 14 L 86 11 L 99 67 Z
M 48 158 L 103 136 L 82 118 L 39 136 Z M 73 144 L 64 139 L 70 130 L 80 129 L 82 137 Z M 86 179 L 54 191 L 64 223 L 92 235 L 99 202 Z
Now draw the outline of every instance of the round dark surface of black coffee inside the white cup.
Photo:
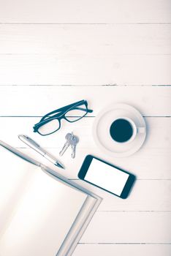
M 126 142 L 133 135 L 132 124 L 126 119 L 119 118 L 111 124 L 110 135 L 117 142 Z

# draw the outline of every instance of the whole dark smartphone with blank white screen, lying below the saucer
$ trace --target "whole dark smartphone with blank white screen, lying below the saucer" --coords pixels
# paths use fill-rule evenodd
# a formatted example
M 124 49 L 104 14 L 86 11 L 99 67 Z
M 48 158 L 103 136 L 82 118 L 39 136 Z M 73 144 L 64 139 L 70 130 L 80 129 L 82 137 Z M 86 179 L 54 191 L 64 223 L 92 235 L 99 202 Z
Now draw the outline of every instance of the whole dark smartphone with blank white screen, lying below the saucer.
M 86 156 L 78 178 L 125 199 L 135 176 L 91 155 Z

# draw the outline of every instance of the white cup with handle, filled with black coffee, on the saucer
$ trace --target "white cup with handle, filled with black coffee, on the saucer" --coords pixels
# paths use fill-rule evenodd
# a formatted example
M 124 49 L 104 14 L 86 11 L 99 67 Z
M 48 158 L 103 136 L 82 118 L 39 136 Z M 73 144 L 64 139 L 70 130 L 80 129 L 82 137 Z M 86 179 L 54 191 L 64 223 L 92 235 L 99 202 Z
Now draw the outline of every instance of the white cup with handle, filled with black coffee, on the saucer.
M 138 133 L 144 133 L 145 127 L 137 127 L 131 118 L 115 118 L 110 126 L 110 136 L 117 143 L 130 143 Z

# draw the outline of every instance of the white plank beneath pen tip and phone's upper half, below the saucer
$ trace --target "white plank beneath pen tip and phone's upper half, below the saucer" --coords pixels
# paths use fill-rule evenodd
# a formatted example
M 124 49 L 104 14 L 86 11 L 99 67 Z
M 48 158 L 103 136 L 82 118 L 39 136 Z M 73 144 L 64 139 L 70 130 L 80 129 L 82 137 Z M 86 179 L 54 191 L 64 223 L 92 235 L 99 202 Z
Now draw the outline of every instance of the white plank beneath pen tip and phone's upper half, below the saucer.
M 32 137 L 31 137 L 32 138 Z M 10 140 L 4 140 L 8 142 L 10 145 L 12 145 L 12 142 Z M 39 140 L 36 140 L 39 142 Z M 56 140 L 56 144 L 58 144 L 58 140 Z M 20 143 L 20 145 L 24 146 L 23 143 Z M 41 144 L 42 145 L 42 144 Z M 63 141 L 64 145 L 64 141 Z M 63 146 L 62 145 L 62 146 Z M 61 147 L 62 147 L 61 146 Z M 134 173 L 135 176 L 137 176 L 138 179 L 154 179 L 154 180 L 165 180 L 165 179 L 171 179 L 170 174 L 170 151 L 166 149 L 163 151 L 163 154 L 159 154 L 159 149 L 153 150 L 153 157 L 142 157 L 141 152 L 137 152 L 132 157 L 127 158 L 115 158 L 112 159 L 112 157 L 109 157 L 107 155 L 104 156 L 102 151 L 99 151 L 98 148 L 77 148 L 77 157 L 73 160 L 71 157 L 71 149 L 64 154 L 63 157 L 59 157 L 58 153 L 61 150 L 61 148 L 51 149 L 47 148 L 47 151 L 49 151 L 51 154 L 53 154 L 57 159 L 61 160 L 61 162 L 65 165 L 66 170 L 61 170 L 60 168 L 56 168 L 53 166 L 53 164 L 50 164 L 47 160 L 45 160 L 43 157 L 41 157 L 37 152 L 28 149 L 28 148 L 20 148 L 23 153 L 28 154 L 30 157 L 34 157 L 36 159 L 39 159 L 40 162 L 44 162 L 45 165 L 48 165 L 50 167 L 55 168 L 56 171 L 61 173 L 62 175 L 66 176 L 67 178 L 77 178 L 77 173 L 80 170 L 80 167 L 83 163 L 84 158 L 87 154 L 92 154 L 96 157 L 99 157 L 101 159 L 106 160 L 107 162 L 112 163 L 113 165 L 116 165 L 118 167 L 123 168 L 123 170 L 127 170 L 130 173 Z M 146 148 L 147 151 L 147 148 Z M 158 151 L 158 153 L 157 153 Z M 147 152 L 147 154 L 151 154 L 151 150 Z M 85 187 L 90 187 L 88 184 L 83 183 Z M 93 189 L 93 187 L 92 187 Z

